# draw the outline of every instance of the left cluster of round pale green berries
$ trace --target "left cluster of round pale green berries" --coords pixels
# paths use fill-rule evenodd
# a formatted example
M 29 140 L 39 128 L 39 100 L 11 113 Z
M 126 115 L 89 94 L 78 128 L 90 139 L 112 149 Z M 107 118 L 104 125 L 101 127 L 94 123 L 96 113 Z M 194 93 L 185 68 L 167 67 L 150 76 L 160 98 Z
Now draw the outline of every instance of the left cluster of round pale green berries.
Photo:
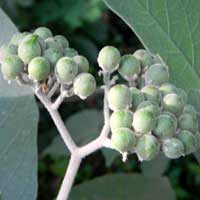
M 46 27 L 15 34 L 0 48 L 0 60 L 2 74 L 9 81 L 21 79 L 42 85 L 55 79 L 82 99 L 96 89 L 87 59 L 69 48 L 64 36 L 53 36 Z

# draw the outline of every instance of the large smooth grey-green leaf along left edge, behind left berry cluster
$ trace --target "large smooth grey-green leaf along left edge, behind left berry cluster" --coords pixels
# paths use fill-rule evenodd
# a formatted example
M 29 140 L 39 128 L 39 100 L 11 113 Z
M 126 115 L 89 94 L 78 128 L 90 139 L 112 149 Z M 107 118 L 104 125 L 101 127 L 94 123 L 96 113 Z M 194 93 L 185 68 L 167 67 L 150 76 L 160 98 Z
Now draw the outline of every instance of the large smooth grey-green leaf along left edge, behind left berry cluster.
M 0 45 L 16 27 L 0 9 Z M 0 74 L 0 194 L 2 200 L 34 200 L 37 195 L 38 110 L 32 92 L 8 85 Z

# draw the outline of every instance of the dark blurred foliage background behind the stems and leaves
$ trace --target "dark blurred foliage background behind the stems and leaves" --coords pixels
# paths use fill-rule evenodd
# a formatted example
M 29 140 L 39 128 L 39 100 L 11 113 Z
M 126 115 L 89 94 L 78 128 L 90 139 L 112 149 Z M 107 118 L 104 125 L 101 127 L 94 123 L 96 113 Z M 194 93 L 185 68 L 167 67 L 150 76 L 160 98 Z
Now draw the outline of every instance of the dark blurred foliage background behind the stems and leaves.
M 98 51 L 104 45 L 114 45 L 123 54 L 142 48 L 142 44 L 131 29 L 109 11 L 101 0 L 1 0 L 0 6 L 20 31 L 47 26 L 54 34 L 65 35 L 70 46 L 88 58 L 91 65 L 90 72 L 96 76 L 99 84 L 101 84 L 101 78 L 98 77 L 96 58 Z M 65 149 L 61 148 L 62 145 L 59 145 L 59 141 L 58 144 L 56 143 L 55 136 L 58 133 L 51 118 L 39 102 L 38 106 L 40 109 L 38 199 L 51 200 L 58 192 L 69 158 L 65 155 Z M 102 125 L 102 120 L 99 120 L 101 109 L 102 94 L 97 93 L 84 102 L 79 99 L 70 99 L 63 103 L 60 112 L 64 120 L 72 122 L 74 118 L 71 116 L 75 116 L 75 119 L 80 118 L 74 125 L 80 129 L 84 126 L 83 123 L 91 124 L 92 112 L 92 116 L 95 116 L 95 120 L 98 121 L 99 128 Z M 85 116 L 84 122 L 81 121 L 80 113 Z M 73 129 L 74 126 L 71 125 L 71 128 Z M 82 134 L 82 132 L 76 128 L 74 137 L 76 134 Z M 79 140 L 81 143 L 84 139 L 79 138 Z M 52 143 L 54 147 L 49 146 Z M 123 163 L 120 155 L 101 150 L 83 161 L 75 184 L 106 174 L 140 173 L 141 171 L 142 167 L 136 156 L 130 156 L 129 160 Z M 178 200 L 199 200 L 200 166 L 193 155 L 167 162 L 164 175 L 169 178 Z

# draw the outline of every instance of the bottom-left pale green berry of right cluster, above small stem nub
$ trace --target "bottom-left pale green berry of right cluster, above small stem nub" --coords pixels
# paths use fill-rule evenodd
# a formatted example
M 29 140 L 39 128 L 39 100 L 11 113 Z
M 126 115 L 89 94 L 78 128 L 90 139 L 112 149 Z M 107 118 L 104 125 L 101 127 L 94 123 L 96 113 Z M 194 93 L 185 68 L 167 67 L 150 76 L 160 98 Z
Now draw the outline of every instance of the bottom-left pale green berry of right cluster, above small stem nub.
M 136 145 L 136 137 L 134 132 L 129 128 L 117 128 L 113 131 L 111 141 L 114 148 L 121 152 L 127 152 Z

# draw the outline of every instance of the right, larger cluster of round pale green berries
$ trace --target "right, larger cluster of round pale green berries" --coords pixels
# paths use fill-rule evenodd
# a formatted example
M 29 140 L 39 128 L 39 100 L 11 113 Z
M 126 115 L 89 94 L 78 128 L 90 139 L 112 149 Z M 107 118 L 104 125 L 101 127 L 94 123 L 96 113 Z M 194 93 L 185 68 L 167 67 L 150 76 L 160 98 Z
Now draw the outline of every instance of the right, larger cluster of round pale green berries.
M 98 56 L 99 66 L 129 82 L 108 92 L 114 148 L 139 160 L 152 160 L 160 151 L 175 159 L 194 152 L 200 144 L 197 112 L 187 104 L 187 94 L 169 83 L 168 67 L 145 50 L 120 56 L 111 46 Z

